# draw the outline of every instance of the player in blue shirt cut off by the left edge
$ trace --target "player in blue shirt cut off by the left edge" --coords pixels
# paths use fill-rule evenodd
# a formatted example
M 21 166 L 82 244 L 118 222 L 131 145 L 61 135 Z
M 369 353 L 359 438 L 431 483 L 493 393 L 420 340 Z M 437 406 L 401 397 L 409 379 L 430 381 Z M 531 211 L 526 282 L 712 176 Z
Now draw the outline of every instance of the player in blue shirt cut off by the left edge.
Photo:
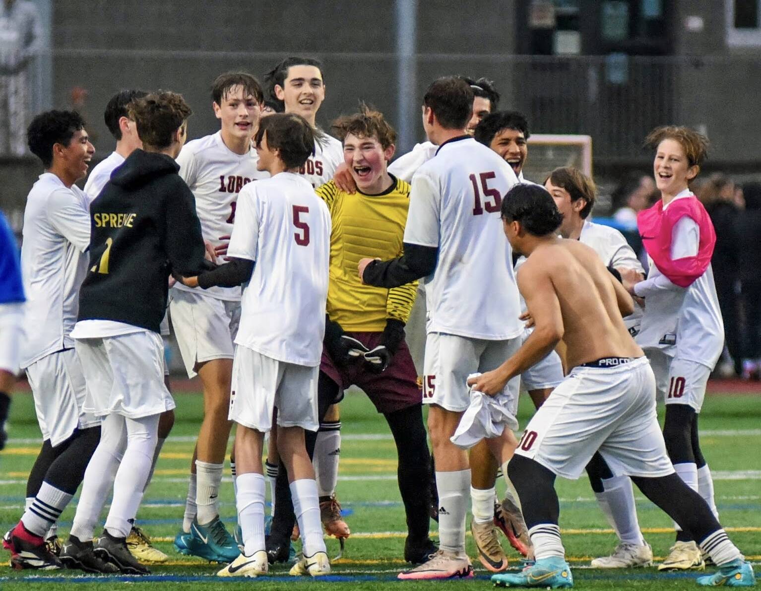
M 5 420 L 18 374 L 26 301 L 16 238 L 0 212 L 0 449 L 5 447 Z

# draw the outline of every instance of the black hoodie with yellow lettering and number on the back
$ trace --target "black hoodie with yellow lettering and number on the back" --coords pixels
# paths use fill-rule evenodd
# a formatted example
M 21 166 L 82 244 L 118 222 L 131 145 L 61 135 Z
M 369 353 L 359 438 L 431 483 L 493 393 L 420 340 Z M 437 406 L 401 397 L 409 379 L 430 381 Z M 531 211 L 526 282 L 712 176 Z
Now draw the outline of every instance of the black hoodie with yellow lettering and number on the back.
M 90 269 L 79 320 L 113 320 L 160 332 L 171 270 L 206 267 L 196 200 L 173 158 L 135 150 L 91 203 Z

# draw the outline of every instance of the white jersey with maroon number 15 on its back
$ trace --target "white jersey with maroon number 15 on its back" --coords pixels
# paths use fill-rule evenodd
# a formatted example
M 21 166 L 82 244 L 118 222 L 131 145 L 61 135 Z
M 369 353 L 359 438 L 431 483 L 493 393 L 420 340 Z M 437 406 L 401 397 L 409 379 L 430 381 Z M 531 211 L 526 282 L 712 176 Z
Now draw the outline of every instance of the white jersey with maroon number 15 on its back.
M 503 340 L 523 331 L 499 217 L 516 183 L 508 163 L 470 137 L 444 142 L 412 177 L 404 241 L 438 248 L 424 280 L 429 333 Z

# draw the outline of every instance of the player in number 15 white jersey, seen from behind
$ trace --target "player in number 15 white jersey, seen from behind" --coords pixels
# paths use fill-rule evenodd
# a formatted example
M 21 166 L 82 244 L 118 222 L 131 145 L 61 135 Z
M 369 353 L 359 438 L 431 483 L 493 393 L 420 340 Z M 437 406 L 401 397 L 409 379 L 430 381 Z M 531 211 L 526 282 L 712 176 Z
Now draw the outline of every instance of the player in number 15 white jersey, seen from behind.
M 520 346 L 512 251 L 496 215 L 517 177 L 495 152 L 465 133 L 472 109 L 473 89 L 462 78 L 439 78 L 428 87 L 423 126 L 439 148 L 412 178 L 404 254 L 386 262 L 363 258 L 358 265 L 368 285 L 390 288 L 425 277 L 423 404 L 431 405 L 440 547 L 431 560 L 400 573 L 402 579 L 473 576 L 465 554 L 470 465 L 450 437 L 470 404 L 467 376 L 494 369 L 501 356 Z M 505 395 L 517 402 L 512 385 Z M 488 442 L 500 465 L 516 443 L 510 429 Z

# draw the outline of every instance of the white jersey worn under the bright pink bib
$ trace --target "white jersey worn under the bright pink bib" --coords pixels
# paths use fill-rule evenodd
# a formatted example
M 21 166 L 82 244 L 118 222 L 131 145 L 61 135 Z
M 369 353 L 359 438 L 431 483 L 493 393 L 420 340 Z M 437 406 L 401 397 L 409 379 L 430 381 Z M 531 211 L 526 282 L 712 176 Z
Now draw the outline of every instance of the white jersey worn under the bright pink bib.
M 692 194 L 684 190 L 670 203 Z M 695 256 L 699 241 L 696 222 L 686 217 L 680 219 L 673 227 L 672 259 Z M 648 279 L 638 283 L 634 290 L 645 298 L 645 315 L 637 343 L 713 369 L 724 348 L 724 322 L 711 265 L 691 286 L 683 288 L 671 283 L 650 260 Z

